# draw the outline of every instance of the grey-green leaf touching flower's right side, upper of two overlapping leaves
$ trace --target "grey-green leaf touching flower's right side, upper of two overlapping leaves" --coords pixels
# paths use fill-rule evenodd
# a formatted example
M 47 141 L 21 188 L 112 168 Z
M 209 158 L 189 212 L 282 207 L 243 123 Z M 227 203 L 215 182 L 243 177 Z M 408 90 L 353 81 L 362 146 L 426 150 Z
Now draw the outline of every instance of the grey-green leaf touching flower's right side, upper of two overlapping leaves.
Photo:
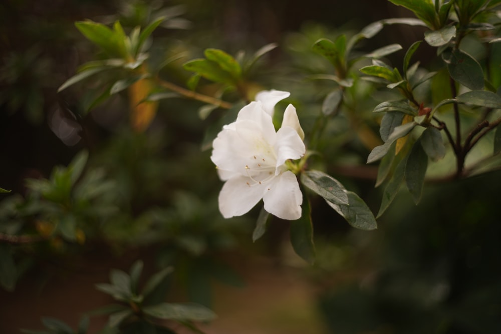
M 332 203 L 348 204 L 348 195 L 344 186 L 324 172 L 318 170 L 303 172 L 301 183 Z

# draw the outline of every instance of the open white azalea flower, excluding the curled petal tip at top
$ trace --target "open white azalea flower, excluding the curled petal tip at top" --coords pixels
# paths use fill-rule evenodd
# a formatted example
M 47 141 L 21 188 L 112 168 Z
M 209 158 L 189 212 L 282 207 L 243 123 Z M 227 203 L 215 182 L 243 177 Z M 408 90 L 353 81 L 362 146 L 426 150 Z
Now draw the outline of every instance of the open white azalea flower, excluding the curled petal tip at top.
M 247 213 L 261 199 L 265 210 L 279 218 L 301 217 L 303 195 L 286 166 L 287 160 L 305 154 L 301 136 L 294 106 L 287 107 L 276 132 L 261 101 L 243 107 L 236 121 L 223 127 L 212 143 L 210 159 L 226 181 L 219 193 L 219 211 L 225 218 Z

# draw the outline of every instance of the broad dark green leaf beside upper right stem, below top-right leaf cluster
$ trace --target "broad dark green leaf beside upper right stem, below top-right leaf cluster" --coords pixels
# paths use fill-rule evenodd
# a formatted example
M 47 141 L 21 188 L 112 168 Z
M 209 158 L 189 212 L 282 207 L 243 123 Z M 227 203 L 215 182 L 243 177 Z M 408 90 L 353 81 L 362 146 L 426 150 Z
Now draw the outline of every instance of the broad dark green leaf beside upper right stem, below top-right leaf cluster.
M 444 52 L 442 58 L 447 63 L 447 70 L 452 79 L 471 90 L 483 88 L 482 67 L 473 57 L 454 49 L 452 52 Z

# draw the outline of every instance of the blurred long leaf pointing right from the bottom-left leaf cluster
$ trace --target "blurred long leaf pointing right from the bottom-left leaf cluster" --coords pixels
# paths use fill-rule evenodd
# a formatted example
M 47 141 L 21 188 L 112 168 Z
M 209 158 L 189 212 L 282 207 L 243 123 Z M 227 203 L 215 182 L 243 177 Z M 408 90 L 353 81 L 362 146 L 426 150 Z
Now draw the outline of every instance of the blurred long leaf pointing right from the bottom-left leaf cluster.
M 205 306 L 194 303 L 160 303 L 146 306 L 143 312 L 149 316 L 176 321 L 211 321 L 216 314 Z

